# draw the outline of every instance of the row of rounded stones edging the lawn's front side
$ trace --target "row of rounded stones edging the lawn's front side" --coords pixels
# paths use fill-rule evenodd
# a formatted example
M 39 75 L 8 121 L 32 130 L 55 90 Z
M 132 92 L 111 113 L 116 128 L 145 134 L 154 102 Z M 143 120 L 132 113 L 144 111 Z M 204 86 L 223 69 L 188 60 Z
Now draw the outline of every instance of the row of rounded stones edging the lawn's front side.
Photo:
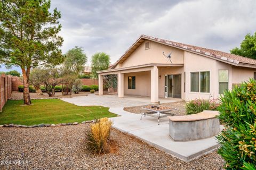
M 81 124 L 86 124 L 86 123 L 92 123 L 95 122 L 96 120 L 91 120 L 91 121 L 83 121 L 81 122 Z M 78 122 L 74 122 L 74 123 L 59 123 L 59 124 L 34 124 L 31 126 L 26 126 L 26 125 L 21 125 L 21 124 L 4 124 L 4 125 L 0 125 L 0 128 L 43 128 L 43 127 L 54 127 L 54 126 L 68 126 L 68 125 L 78 125 L 80 123 Z

